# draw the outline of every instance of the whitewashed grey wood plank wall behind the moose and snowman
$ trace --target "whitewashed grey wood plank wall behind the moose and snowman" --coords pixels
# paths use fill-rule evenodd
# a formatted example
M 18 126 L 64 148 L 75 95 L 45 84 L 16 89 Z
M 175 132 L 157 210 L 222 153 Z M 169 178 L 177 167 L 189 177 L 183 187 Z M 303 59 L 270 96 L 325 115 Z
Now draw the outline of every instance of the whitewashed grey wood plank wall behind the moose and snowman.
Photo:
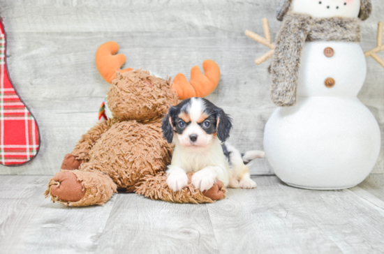
M 94 54 L 108 40 L 119 43 L 126 67 L 163 77 L 179 72 L 189 77 L 193 65 L 216 61 L 221 82 L 208 99 L 232 115 L 230 142 L 241 151 L 263 149 L 264 126 L 275 106 L 269 100 L 269 62 L 256 66 L 254 60 L 267 48 L 244 31 L 263 34 L 261 19 L 267 17 L 274 37 L 280 25 L 274 18 L 278 1 L 0 0 L 10 76 L 36 117 L 42 140 L 35 160 L 21 167 L 1 166 L 0 174 L 59 170 L 64 155 L 96 124 L 108 84 L 98 75 Z M 377 23 L 384 21 L 384 1 L 372 1 L 374 11 L 363 23 L 363 50 L 375 47 Z M 359 98 L 384 137 L 384 70 L 371 58 L 367 63 Z M 383 172 L 383 151 L 376 173 Z M 253 163 L 251 171 L 272 174 L 266 160 Z

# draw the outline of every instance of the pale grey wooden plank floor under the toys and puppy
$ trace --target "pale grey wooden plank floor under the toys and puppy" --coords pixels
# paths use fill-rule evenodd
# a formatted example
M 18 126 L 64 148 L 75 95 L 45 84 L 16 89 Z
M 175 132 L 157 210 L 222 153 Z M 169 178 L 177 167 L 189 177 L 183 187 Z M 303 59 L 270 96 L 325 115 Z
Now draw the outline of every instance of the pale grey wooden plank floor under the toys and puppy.
M 214 204 L 128 193 L 104 206 L 44 199 L 48 176 L 0 177 L 0 253 L 383 253 L 384 176 L 344 191 L 253 177 Z

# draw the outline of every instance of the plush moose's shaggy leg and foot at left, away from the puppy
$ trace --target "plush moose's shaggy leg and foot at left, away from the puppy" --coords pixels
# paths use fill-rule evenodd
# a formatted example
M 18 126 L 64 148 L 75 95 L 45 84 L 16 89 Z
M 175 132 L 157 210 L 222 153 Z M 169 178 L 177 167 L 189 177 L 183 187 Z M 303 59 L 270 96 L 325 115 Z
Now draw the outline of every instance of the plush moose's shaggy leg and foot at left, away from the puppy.
M 104 204 L 113 193 L 116 184 L 102 172 L 81 170 L 61 170 L 50 179 L 45 197 L 71 207 L 86 207 Z

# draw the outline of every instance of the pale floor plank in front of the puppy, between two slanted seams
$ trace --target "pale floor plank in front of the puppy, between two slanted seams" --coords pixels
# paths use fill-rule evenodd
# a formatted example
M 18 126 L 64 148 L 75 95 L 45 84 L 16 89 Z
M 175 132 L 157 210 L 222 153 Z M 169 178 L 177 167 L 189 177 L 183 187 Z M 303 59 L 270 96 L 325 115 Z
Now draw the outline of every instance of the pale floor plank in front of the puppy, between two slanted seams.
M 207 205 L 119 194 L 96 253 L 219 253 Z

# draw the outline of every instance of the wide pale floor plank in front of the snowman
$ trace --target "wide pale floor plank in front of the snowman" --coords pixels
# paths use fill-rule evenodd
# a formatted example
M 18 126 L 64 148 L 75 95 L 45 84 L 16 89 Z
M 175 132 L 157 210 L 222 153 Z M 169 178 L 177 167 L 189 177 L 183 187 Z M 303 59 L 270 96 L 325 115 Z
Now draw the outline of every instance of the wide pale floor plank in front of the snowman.
M 384 209 L 377 197 L 253 179 L 257 189 L 230 190 L 228 199 L 209 206 L 220 253 L 382 253 Z

